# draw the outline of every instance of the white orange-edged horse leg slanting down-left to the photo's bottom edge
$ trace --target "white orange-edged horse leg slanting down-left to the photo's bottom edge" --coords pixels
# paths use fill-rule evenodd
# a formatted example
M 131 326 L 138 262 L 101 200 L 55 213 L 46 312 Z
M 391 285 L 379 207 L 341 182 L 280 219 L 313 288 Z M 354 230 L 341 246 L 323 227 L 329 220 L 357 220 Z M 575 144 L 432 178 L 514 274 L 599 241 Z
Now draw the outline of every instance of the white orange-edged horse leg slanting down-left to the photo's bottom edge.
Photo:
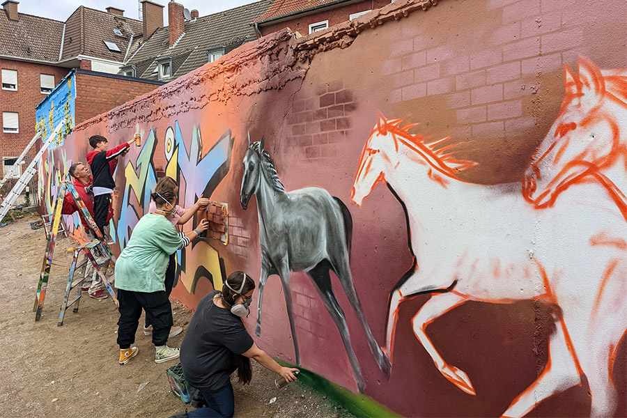
M 566 343 L 564 319 L 556 324 L 549 338 L 548 361 L 539 378 L 513 400 L 503 417 L 524 417 L 552 394 L 563 392 L 581 382 L 580 369 Z

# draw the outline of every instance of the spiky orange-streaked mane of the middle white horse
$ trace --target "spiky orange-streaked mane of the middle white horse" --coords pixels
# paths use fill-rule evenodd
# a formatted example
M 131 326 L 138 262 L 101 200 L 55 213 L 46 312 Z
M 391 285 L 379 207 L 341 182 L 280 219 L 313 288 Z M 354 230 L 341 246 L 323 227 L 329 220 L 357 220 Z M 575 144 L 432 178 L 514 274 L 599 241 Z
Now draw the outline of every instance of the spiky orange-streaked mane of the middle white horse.
M 444 172 L 449 176 L 456 176 L 456 174 L 460 171 L 470 169 L 471 167 L 479 164 L 478 162 L 471 160 L 458 160 L 454 157 L 456 153 L 460 153 L 462 150 L 451 151 L 451 148 L 459 146 L 463 143 L 448 144 L 439 147 L 449 141 L 451 137 L 444 137 L 442 139 L 426 143 L 425 141 L 428 137 L 423 137 L 421 134 L 411 134 L 409 132 L 412 127 L 418 125 L 417 123 L 406 123 L 401 127 L 401 122 L 403 122 L 403 119 L 387 119 L 381 117 L 379 123 L 376 125 L 379 134 L 385 135 L 388 132 L 392 134 L 396 150 L 398 150 L 398 140 L 400 140 L 411 150 L 414 150 L 417 153 L 426 154 L 433 158 L 433 160 L 440 166 L 439 169 L 444 170 Z

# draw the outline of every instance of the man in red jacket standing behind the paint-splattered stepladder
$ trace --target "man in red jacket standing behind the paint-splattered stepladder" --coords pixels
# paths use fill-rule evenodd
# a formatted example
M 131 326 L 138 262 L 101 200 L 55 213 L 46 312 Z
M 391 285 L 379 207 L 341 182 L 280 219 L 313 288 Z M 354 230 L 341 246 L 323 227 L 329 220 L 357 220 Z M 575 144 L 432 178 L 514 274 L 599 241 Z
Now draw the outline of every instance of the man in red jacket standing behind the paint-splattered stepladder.
M 93 198 L 91 193 L 89 193 L 86 188 L 91 187 L 93 184 L 93 178 L 89 173 L 89 169 L 82 162 L 75 162 L 70 166 L 70 176 L 74 178 L 72 184 L 74 185 L 77 193 L 81 196 L 85 207 L 89 214 L 93 217 Z M 61 213 L 63 215 L 72 215 L 74 212 L 79 212 L 79 216 L 81 218 L 81 223 L 83 224 L 83 229 L 87 234 L 90 240 L 97 240 L 95 232 L 89 226 L 89 222 L 87 219 L 83 217 L 81 210 L 79 210 L 78 205 L 74 201 L 72 194 L 70 192 L 65 194 L 65 198 L 63 199 L 63 207 L 61 208 Z M 107 222 L 113 217 L 113 208 L 109 205 L 107 211 Z M 86 256 L 85 256 L 86 257 Z M 102 274 L 106 272 L 106 269 L 103 269 Z M 102 284 L 102 280 L 98 274 L 95 274 L 95 270 L 91 263 L 86 263 L 85 265 L 85 280 L 83 281 L 82 291 L 88 292 L 91 297 L 94 299 L 105 299 L 109 297 L 109 293 L 104 291 L 104 284 Z

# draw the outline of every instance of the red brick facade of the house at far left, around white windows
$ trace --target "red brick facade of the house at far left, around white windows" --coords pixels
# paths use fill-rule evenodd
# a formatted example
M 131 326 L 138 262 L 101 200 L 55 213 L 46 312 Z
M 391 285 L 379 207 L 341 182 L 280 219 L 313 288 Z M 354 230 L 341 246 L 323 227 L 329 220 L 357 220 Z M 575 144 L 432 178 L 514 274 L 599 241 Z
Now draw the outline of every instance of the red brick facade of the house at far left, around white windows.
M 59 83 L 68 75 L 69 69 L 5 59 L 0 60 L 0 68 L 17 71 L 17 91 L 0 89 L 0 103 L 1 111 L 17 112 L 20 122 L 17 134 L 5 134 L 0 129 L 0 158 L 17 157 L 35 135 L 35 107 L 46 97 L 40 90 L 40 75 L 54 75 L 54 82 Z M 33 147 L 29 155 L 33 157 L 35 154 L 36 149 Z

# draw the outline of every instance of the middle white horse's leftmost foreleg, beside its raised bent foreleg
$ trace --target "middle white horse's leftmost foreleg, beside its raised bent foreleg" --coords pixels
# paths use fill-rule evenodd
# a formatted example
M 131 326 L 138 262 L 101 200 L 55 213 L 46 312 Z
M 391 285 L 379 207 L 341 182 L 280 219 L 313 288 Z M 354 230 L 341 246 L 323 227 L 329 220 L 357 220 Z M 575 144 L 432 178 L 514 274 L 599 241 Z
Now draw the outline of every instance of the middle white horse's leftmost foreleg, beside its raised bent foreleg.
M 401 280 L 398 281 L 396 287 L 389 293 L 389 306 L 387 310 L 387 325 L 385 328 L 385 343 L 387 346 L 383 348 L 389 361 L 392 362 L 394 355 L 394 335 L 396 334 L 396 321 L 398 320 L 398 308 L 401 302 L 415 297 L 421 293 L 431 293 L 433 291 L 444 291 L 455 283 L 454 280 L 442 280 L 442 283 L 421 283 L 418 266 L 414 265 L 406 272 Z

